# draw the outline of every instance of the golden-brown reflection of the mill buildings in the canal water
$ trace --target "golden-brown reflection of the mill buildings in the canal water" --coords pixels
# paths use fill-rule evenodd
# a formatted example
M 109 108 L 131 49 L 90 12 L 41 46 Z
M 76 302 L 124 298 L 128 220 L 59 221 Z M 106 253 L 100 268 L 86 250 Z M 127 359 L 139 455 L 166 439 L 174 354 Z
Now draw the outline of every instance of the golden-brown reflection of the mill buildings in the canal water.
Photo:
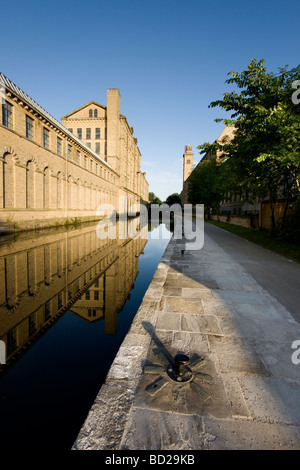
M 117 234 L 127 233 L 125 223 L 117 222 Z M 0 372 L 66 311 L 90 323 L 104 321 L 105 334 L 115 334 L 147 243 L 148 226 L 137 227 L 127 239 L 99 239 L 95 225 L 83 225 L 0 244 L 0 340 L 6 344 Z

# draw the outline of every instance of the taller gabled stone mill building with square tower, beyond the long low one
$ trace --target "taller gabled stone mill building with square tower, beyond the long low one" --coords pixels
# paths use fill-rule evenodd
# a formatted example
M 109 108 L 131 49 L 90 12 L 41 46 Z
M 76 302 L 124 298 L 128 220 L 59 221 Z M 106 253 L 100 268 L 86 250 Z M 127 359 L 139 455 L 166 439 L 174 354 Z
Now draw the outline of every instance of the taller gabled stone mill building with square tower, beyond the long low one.
M 128 207 L 148 202 L 148 183 L 141 172 L 141 153 L 133 128 L 120 113 L 120 93 L 107 90 L 107 107 L 90 101 L 62 117 L 62 123 L 86 145 L 98 153 L 119 175 L 120 194 L 127 197 Z

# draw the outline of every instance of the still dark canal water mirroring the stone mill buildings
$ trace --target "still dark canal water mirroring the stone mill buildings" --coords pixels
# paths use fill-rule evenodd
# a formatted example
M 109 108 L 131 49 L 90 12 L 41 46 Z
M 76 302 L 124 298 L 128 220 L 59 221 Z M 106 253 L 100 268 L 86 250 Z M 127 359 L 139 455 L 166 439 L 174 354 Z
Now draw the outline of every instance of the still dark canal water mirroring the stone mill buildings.
M 170 236 L 101 240 L 82 225 L 2 237 L 0 450 L 71 448 Z

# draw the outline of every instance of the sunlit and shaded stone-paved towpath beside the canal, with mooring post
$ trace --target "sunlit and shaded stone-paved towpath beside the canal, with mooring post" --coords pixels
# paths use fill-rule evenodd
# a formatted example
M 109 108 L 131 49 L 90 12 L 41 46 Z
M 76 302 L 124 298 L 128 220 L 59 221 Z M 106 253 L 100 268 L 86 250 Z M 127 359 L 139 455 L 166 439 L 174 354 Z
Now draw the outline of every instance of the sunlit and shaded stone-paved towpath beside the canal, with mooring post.
M 252 244 L 225 237 L 206 225 L 199 251 L 170 241 L 73 449 L 300 449 L 294 303 L 248 269 Z

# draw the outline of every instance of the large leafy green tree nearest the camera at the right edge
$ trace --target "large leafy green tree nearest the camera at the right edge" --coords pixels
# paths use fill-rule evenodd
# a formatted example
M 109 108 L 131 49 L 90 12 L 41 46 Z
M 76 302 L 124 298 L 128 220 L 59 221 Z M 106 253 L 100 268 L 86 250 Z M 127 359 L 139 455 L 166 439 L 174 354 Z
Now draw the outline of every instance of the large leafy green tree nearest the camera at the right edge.
M 230 162 L 238 186 L 244 192 L 268 198 L 275 228 L 274 207 L 280 197 L 286 200 L 300 191 L 300 106 L 292 101 L 292 84 L 300 77 L 300 65 L 277 74 L 267 73 L 264 60 L 252 59 L 247 70 L 230 72 L 227 84 L 237 91 L 224 93 L 210 107 L 231 113 L 231 119 L 216 119 L 234 125 L 230 143 L 213 144 Z M 199 146 L 209 149 L 209 144 Z

